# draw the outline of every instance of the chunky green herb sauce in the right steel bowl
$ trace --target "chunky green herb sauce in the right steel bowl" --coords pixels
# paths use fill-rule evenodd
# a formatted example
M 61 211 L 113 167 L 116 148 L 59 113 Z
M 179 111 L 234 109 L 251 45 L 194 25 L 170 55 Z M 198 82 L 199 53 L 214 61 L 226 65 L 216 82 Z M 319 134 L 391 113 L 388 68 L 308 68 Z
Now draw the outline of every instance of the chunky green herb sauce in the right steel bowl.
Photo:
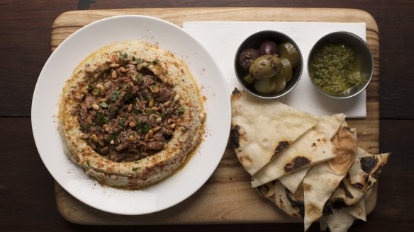
M 340 93 L 364 83 L 359 75 L 357 52 L 341 42 L 319 47 L 310 59 L 311 78 L 325 92 Z

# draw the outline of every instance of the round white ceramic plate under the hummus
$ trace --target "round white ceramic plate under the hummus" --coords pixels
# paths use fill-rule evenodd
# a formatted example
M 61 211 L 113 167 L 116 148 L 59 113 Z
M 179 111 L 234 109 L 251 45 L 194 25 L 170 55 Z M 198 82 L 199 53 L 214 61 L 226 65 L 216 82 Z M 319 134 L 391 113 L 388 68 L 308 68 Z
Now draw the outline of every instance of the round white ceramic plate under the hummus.
M 102 187 L 69 161 L 57 131 L 60 92 L 74 68 L 113 42 L 143 40 L 183 59 L 206 96 L 206 130 L 201 146 L 179 172 L 142 190 Z M 32 127 L 40 157 L 53 178 L 81 202 L 114 214 L 149 214 L 183 201 L 210 178 L 223 156 L 230 132 L 230 93 L 212 57 L 177 25 L 147 16 L 117 16 L 78 30 L 47 60 L 32 102 Z

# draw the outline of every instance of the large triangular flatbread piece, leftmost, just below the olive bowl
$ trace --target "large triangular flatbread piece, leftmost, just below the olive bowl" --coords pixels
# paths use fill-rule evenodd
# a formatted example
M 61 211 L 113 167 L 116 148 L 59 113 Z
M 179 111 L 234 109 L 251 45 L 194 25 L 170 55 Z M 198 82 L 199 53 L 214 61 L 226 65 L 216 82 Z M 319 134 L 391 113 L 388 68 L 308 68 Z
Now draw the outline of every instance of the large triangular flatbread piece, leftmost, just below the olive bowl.
M 320 117 L 308 112 L 274 100 L 254 98 L 237 89 L 233 91 L 231 103 L 230 140 L 237 158 L 250 175 L 254 175 L 320 120 Z

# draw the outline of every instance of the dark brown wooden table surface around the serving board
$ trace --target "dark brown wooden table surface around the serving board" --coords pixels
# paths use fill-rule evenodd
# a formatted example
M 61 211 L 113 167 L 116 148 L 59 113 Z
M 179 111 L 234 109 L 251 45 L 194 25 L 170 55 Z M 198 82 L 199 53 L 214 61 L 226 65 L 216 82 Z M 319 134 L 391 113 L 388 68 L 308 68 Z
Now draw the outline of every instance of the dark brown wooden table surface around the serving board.
M 0 231 L 303 231 L 303 224 L 79 226 L 56 209 L 54 180 L 40 160 L 30 105 L 50 55 L 50 30 L 60 13 L 78 9 L 272 6 L 359 8 L 370 13 L 380 38 L 380 144 L 391 160 L 367 223 L 349 231 L 414 231 L 413 151 L 414 1 L 0 1 Z M 309 231 L 319 231 L 313 224 Z

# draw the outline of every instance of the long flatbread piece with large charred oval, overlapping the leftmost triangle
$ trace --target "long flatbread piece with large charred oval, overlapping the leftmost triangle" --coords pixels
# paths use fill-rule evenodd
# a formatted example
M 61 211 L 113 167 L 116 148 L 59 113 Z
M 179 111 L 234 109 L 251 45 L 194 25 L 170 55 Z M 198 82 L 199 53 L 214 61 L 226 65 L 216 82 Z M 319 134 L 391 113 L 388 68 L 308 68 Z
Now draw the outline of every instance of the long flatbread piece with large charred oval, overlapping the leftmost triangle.
M 255 173 L 252 177 L 252 187 L 276 180 L 294 170 L 334 158 L 334 146 L 330 140 L 343 122 L 345 115 L 342 114 L 322 117 L 313 129 L 303 134 L 288 149 Z M 300 181 L 296 180 L 297 182 Z M 289 188 L 297 189 L 297 185 L 289 185 Z

